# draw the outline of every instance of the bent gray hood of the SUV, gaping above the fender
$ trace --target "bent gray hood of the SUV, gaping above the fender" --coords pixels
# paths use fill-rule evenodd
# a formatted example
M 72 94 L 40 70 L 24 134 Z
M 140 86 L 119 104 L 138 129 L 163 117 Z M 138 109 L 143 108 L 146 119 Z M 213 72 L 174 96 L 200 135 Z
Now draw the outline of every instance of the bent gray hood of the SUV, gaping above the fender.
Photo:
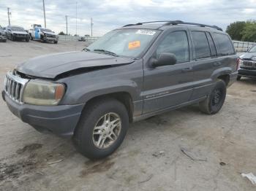
M 75 69 L 94 66 L 118 66 L 132 63 L 132 58 L 114 57 L 95 52 L 61 52 L 31 58 L 17 66 L 17 71 L 33 77 L 55 78 L 59 74 Z

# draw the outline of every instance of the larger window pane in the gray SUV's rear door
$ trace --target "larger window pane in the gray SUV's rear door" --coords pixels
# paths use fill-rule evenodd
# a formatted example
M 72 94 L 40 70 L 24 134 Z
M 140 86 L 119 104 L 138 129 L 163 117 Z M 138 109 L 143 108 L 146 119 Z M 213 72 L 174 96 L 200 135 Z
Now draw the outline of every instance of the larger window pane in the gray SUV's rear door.
M 194 44 L 195 58 L 211 57 L 210 47 L 203 31 L 192 31 L 192 42 Z

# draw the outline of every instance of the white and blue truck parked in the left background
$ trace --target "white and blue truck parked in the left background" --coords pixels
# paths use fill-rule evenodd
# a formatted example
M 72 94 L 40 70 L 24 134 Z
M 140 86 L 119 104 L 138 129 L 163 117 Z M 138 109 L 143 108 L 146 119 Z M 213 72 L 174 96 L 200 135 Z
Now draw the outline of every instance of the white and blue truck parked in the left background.
M 41 42 L 53 42 L 58 43 L 59 36 L 48 28 L 41 28 L 36 26 L 29 29 L 29 36 L 31 40 L 39 40 Z

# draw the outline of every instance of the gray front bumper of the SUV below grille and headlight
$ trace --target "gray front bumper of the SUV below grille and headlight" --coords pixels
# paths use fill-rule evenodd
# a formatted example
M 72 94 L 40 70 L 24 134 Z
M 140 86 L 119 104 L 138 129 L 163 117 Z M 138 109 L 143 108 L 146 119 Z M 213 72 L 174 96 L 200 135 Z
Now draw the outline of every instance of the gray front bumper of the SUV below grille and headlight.
M 23 122 L 41 132 L 50 131 L 65 137 L 70 137 L 74 133 L 84 106 L 84 104 L 59 106 L 18 104 L 5 91 L 2 91 L 2 97 L 10 111 Z

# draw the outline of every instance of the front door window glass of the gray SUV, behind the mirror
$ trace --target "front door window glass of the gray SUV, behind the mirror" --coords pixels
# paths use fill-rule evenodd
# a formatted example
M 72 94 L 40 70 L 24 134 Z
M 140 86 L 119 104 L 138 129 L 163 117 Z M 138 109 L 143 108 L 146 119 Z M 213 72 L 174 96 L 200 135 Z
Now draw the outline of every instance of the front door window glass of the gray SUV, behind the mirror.
M 177 63 L 189 61 L 189 42 L 186 31 L 175 31 L 167 36 L 157 47 L 157 58 L 161 53 L 168 52 L 176 55 Z

